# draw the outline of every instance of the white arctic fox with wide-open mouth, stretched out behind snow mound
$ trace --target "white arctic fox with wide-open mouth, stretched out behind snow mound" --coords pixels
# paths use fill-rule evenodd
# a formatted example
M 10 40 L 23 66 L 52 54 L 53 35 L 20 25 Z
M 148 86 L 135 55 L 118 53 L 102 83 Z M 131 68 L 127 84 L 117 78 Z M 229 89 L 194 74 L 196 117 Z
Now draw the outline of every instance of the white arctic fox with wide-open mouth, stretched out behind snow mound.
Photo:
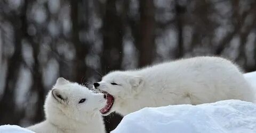
M 254 92 L 236 65 L 220 57 L 180 59 L 137 70 L 114 71 L 93 84 L 108 94 L 102 115 L 125 116 L 145 107 L 202 104 L 238 99 L 253 102 Z

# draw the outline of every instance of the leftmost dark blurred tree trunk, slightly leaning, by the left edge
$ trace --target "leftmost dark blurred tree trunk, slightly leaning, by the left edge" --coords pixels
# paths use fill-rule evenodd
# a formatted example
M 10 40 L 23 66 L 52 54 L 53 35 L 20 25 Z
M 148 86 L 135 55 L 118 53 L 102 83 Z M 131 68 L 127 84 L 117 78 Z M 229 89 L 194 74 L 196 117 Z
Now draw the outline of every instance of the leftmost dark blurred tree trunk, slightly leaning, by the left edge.
M 24 7 L 26 11 L 26 5 Z M 23 10 L 22 10 L 23 11 Z M 0 101 L 0 125 L 9 123 L 9 124 L 18 124 L 22 118 L 22 114 L 19 113 L 17 108 L 15 108 L 15 87 L 18 81 L 20 66 L 22 62 L 21 56 L 21 41 L 23 38 L 23 16 L 25 13 L 22 12 L 20 16 L 13 13 L 11 16 L 8 16 L 9 21 L 14 30 L 14 52 L 13 55 L 7 59 L 7 73 L 6 80 L 4 85 L 3 95 Z

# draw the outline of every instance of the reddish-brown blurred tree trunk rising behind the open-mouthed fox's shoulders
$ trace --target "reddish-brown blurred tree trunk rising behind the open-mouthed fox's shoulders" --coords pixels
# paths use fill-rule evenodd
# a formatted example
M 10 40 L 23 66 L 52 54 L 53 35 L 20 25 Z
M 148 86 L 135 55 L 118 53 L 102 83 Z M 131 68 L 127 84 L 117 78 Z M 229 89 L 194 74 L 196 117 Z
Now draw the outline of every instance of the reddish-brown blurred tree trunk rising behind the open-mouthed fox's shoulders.
M 150 65 L 155 48 L 155 6 L 153 0 L 139 1 L 140 21 L 135 37 L 139 50 L 139 67 Z

